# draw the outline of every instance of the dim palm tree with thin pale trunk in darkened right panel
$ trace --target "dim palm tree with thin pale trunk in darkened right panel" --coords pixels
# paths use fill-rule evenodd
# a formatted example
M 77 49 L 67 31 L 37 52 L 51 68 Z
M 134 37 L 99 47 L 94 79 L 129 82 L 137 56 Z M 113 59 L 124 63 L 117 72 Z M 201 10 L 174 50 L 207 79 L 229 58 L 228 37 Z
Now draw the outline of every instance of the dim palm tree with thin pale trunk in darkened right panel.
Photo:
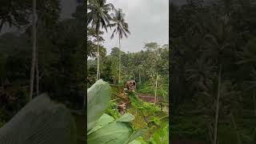
M 232 52 L 234 39 L 232 37 L 232 27 L 229 25 L 229 18 L 225 15 L 221 18 L 210 18 L 208 23 L 208 33 L 206 33 L 206 56 L 218 67 L 218 93 L 214 121 L 214 144 L 218 143 L 218 112 L 221 97 L 221 80 L 222 80 L 222 62 L 224 54 Z

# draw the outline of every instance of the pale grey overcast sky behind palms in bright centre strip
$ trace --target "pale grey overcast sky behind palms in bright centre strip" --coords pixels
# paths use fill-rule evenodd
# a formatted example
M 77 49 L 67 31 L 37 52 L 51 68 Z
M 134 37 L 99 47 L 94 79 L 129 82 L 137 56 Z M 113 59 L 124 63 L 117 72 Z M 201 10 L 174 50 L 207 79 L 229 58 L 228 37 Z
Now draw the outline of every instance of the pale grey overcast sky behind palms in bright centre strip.
M 130 35 L 121 41 L 121 50 L 136 52 L 142 50 L 145 42 L 168 44 L 169 2 L 168 0 L 107 0 L 126 14 Z M 107 54 L 118 46 L 118 36 L 110 39 L 113 30 L 103 35 Z

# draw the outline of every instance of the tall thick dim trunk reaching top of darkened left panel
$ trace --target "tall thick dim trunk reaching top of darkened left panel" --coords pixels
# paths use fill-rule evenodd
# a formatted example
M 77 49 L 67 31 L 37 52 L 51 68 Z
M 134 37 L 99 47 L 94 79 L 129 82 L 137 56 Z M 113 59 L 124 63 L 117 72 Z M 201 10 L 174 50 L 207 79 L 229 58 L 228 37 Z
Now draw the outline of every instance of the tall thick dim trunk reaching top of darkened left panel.
M 33 0 L 33 14 L 32 14 L 32 35 L 33 35 L 33 49 L 32 49 L 32 62 L 31 62 L 31 69 L 30 69 L 30 97 L 29 101 L 32 99 L 33 95 L 33 86 L 34 86 L 34 65 L 35 65 L 35 56 L 36 56 L 36 22 L 35 22 L 35 15 L 36 15 L 36 0 Z

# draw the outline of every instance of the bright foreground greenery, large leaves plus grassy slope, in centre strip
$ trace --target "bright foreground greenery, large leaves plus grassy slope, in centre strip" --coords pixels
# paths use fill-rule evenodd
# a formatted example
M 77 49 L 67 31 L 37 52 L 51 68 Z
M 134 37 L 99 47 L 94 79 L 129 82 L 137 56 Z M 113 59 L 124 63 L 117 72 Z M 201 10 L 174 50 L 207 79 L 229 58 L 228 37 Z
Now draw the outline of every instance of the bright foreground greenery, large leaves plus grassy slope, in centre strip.
M 89 126 L 87 142 L 130 142 L 129 144 L 169 142 L 168 114 L 162 112 L 154 103 L 142 102 L 136 94 L 130 93 L 128 97 L 131 106 L 128 113 L 121 115 L 116 103 L 118 98 L 109 101 L 111 94 L 114 94 L 113 89 L 114 87 L 110 90 L 106 82 L 98 80 L 87 90 L 87 126 Z M 122 133 L 119 130 L 122 130 Z M 122 137 L 119 136 L 120 134 Z

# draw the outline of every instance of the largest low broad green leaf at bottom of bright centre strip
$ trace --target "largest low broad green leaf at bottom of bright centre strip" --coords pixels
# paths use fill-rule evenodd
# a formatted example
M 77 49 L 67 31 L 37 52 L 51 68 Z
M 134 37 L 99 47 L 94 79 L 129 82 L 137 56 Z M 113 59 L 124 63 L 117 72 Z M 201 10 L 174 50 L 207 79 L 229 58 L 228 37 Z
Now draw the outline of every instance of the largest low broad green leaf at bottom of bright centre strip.
M 88 144 L 121 144 L 126 143 L 133 133 L 128 122 L 110 122 L 101 129 L 87 135 Z

